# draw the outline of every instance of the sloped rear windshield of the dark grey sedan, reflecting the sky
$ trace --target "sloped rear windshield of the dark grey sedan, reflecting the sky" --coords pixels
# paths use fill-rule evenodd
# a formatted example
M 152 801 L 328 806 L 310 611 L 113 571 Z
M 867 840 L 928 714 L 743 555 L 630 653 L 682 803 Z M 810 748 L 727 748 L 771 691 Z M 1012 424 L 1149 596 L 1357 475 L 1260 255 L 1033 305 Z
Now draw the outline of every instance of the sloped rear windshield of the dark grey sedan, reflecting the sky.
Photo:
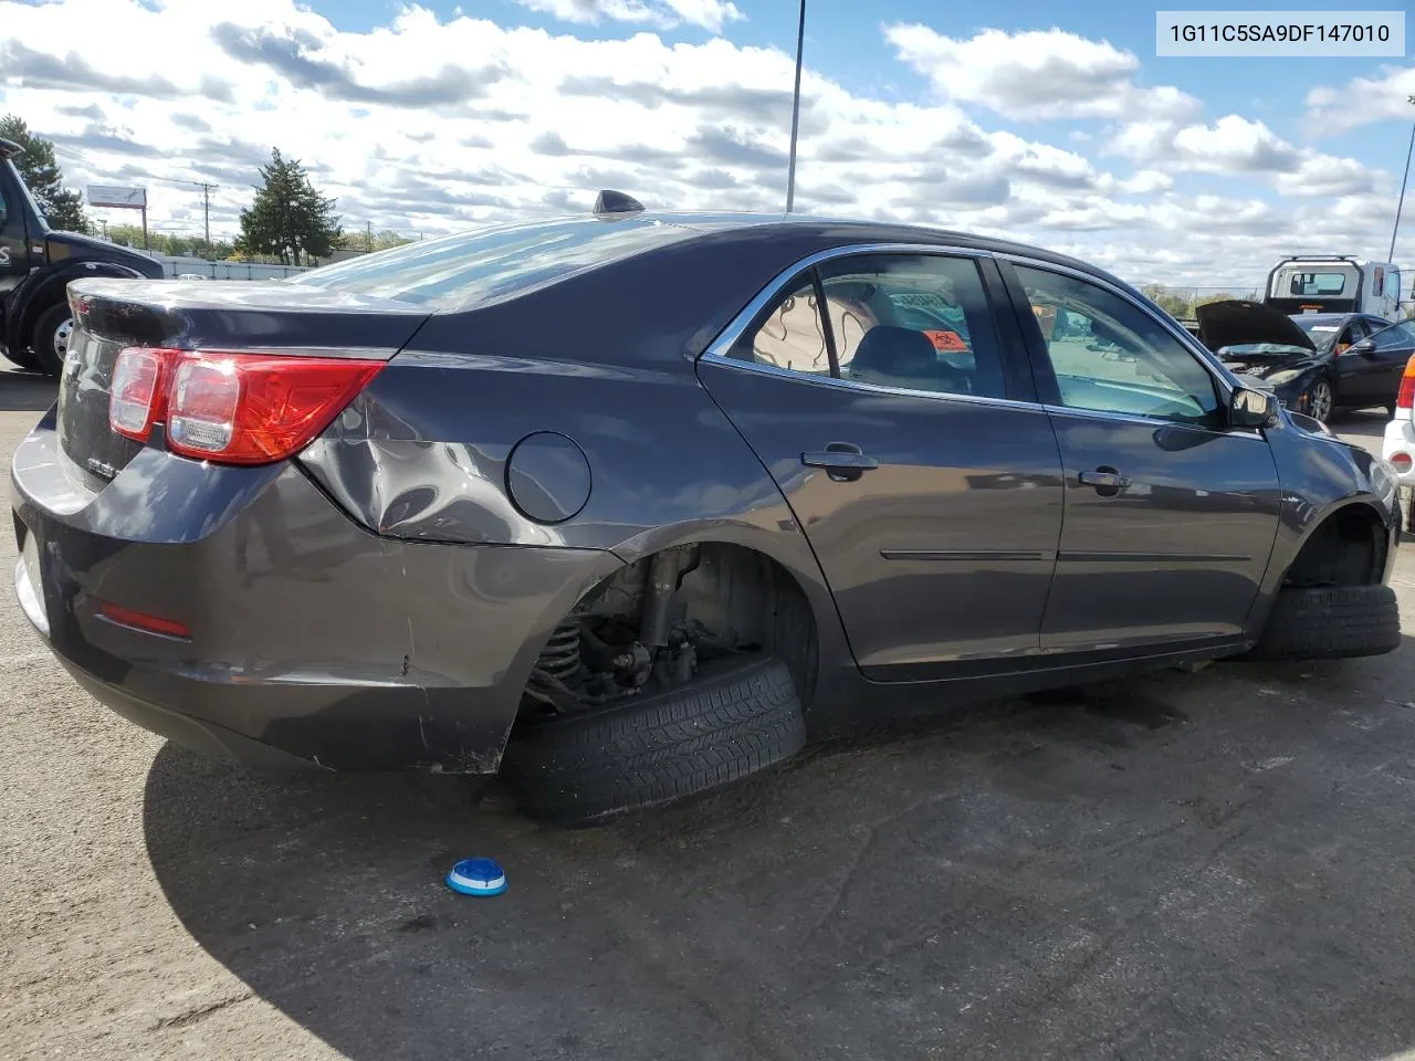
M 647 219 L 498 225 L 338 262 L 290 283 L 470 310 L 693 235 L 692 228 Z

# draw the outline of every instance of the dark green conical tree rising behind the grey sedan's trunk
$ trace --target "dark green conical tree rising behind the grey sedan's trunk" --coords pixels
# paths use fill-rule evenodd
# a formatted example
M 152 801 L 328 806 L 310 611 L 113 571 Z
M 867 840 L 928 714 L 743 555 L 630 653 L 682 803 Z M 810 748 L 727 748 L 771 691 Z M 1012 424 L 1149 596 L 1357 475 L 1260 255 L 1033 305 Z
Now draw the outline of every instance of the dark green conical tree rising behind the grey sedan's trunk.
M 334 199 L 316 191 L 297 158 L 283 158 L 280 149 L 272 149 L 260 180 L 250 209 L 241 211 L 238 250 L 303 265 L 310 257 L 327 257 L 342 242 Z

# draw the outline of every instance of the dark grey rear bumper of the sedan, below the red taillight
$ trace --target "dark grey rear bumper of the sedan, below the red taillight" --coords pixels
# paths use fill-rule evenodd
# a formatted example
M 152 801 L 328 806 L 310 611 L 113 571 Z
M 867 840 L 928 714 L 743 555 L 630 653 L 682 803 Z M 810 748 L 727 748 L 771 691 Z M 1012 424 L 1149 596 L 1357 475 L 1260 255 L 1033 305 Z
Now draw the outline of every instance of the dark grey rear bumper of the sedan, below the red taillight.
M 100 703 L 248 763 L 495 771 L 550 630 L 620 564 L 379 538 L 293 464 L 150 447 L 89 494 L 64 461 L 51 412 L 11 465 L 31 622 Z M 119 625 L 100 603 L 190 638 Z

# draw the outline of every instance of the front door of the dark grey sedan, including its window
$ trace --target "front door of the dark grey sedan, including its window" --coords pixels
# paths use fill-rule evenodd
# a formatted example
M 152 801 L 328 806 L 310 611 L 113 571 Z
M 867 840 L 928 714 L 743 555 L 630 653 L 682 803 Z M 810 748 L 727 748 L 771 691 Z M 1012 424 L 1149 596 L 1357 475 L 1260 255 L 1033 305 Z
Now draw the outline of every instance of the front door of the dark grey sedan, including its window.
M 1225 429 L 1217 373 L 1119 289 L 1041 265 L 1005 272 L 1033 310 L 1065 471 L 1043 649 L 1241 638 L 1278 530 L 1266 440 Z

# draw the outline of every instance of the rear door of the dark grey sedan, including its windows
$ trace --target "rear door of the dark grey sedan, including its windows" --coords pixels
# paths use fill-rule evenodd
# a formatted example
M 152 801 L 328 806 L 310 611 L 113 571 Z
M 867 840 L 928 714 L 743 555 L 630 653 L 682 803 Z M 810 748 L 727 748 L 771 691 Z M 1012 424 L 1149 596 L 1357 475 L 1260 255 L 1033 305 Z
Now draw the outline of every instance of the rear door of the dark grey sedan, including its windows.
M 699 361 L 883 680 L 1039 651 L 1060 457 L 1046 412 L 1017 400 L 1016 317 L 989 290 L 1003 294 L 986 257 L 843 255 Z

